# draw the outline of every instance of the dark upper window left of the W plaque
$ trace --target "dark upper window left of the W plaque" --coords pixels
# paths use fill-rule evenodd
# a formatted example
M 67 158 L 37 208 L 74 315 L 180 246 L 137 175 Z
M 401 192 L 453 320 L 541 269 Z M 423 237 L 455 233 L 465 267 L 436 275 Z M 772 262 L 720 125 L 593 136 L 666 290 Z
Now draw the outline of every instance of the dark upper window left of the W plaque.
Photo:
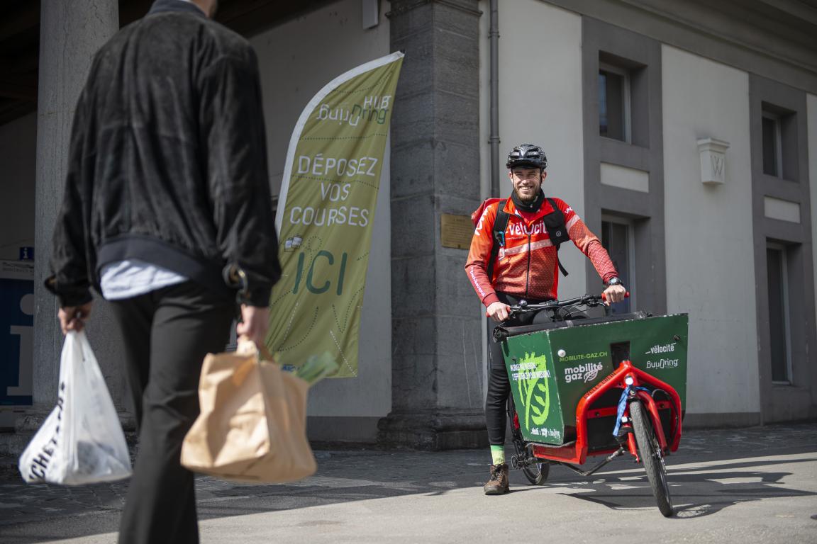
M 630 142 L 630 73 L 599 64 L 599 134 Z

